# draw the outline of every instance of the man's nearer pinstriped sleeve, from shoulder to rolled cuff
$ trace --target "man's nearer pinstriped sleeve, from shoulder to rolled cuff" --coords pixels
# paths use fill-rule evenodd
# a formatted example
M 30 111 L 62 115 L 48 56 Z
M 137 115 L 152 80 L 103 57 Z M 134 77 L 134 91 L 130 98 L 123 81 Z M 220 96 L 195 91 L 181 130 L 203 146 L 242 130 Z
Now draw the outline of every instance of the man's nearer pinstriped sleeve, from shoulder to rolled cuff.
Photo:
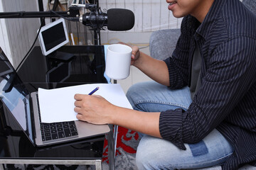
M 201 89 L 188 110 L 161 112 L 161 137 L 181 146 L 182 142 L 200 141 L 223 120 L 236 125 L 236 109 L 255 79 L 255 47 L 255 40 L 248 37 L 233 38 L 215 47 L 202 73 Z

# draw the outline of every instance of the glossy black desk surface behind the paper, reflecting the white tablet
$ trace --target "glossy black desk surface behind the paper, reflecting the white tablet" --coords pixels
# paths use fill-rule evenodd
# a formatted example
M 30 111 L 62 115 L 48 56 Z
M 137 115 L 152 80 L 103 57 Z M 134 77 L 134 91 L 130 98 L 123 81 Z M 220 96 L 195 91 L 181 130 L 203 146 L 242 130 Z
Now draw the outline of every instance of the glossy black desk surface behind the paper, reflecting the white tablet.
M 63 46 L 58 52 L 66 52 L 71 57 L 58 57 L 56 60 L 56 54 L 45 57 L 40 47 L 34 47 L 18 69 L 18 76 L 23 82 L 33 85 L 34 89 L 107 83 L 104 77 L 105 53 L 102 45 Z

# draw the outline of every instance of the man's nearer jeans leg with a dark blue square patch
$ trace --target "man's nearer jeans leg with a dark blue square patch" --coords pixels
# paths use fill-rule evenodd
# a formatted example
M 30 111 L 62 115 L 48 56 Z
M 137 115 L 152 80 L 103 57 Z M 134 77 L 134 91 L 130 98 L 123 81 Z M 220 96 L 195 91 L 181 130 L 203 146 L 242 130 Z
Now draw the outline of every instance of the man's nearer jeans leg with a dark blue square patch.
M 213 130 L 201 142 L 178 149 L 171 142 L 144 135 L 136 154 L 138 169 L 200 169 L 220 165 L 233 153 L 225 137 Z

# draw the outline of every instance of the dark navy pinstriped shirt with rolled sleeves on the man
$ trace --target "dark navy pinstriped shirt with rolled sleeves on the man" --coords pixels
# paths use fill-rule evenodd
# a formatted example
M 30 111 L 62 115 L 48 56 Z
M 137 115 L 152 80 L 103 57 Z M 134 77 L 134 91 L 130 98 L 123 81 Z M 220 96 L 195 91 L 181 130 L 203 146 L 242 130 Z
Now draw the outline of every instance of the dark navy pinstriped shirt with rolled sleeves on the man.
M 202 57 L 201 88 L 187 111 L 160 114 L 161 137 L 186 149 L 214 128 L 234 145 L 223 169 L 256 166 L 256 16 L 239 0 L 215 0 L 203 23 L 183 18 L 172 57 L 164 60 L 171 89 L 190 86 L 195 47 Z

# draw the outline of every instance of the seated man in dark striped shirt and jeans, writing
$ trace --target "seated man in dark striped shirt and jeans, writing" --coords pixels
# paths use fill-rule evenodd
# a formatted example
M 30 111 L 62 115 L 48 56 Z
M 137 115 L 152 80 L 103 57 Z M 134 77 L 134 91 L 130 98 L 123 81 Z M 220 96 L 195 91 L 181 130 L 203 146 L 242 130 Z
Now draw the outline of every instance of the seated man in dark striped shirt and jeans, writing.
M 255 15 L 239 0 L 166 2 L 184 17 L 172 57 L 132 52 L 131 64 L 157 83 L 129 89 L 134 110 L 76 94 L 77 118 L 146 134 L 138 169 L 256 166 Z

